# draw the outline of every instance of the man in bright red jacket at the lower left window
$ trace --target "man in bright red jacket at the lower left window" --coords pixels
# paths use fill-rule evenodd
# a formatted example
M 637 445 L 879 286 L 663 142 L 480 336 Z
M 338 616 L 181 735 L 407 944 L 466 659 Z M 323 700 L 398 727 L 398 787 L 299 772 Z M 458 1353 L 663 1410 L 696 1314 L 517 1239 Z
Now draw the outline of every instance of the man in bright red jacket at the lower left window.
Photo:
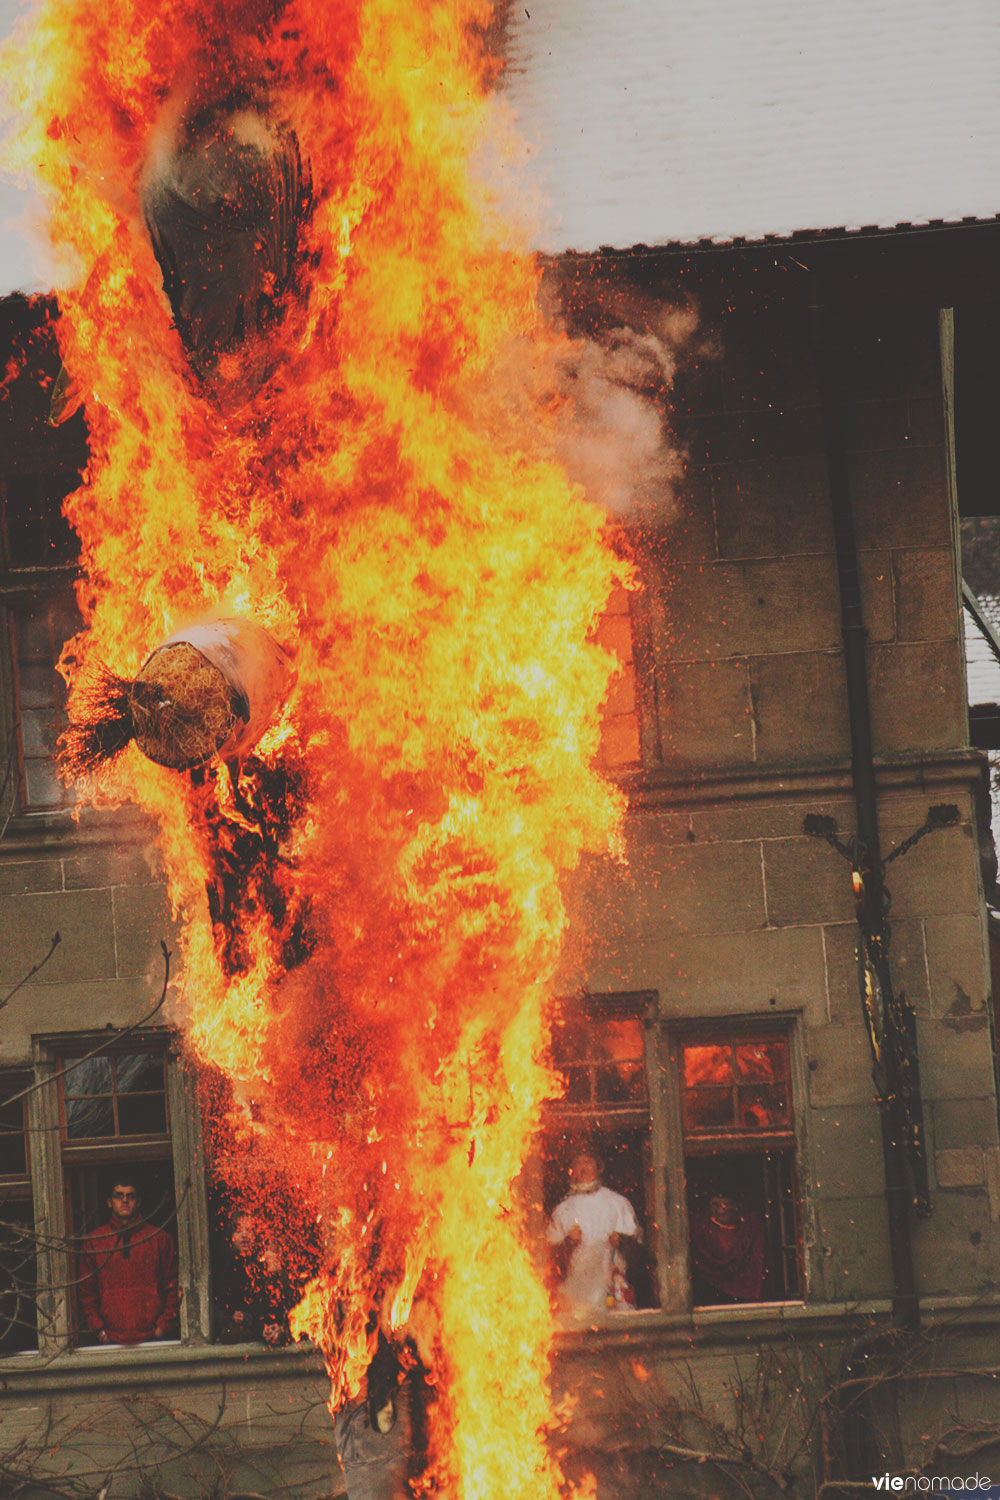
M 111 1218 L 84 1240 L 79 1311 L 99 1344 L 142 1344 L 177 1335 L 177 1251 L 169 1234 L 142 1221 L 132 1178 L 108 1198 Z

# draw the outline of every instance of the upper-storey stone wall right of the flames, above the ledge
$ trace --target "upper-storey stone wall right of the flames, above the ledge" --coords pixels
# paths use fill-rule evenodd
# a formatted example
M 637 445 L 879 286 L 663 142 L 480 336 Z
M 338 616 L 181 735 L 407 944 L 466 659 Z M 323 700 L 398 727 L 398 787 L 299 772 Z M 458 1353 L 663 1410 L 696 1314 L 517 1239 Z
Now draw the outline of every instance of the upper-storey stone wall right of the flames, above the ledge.
M 678 771 L 843 762 L 850 750 L 802 288 L 780 279 L 772 298 L 750 315 L 706 303 L 723 354 L 681 382 L 685 478 L 645 554 L 639 609 L 663 621 L 655 705 L 663 764 Z M 838 333 L 876 752 L 957 748 L 967 730 L 937 312 L 867 308 Z

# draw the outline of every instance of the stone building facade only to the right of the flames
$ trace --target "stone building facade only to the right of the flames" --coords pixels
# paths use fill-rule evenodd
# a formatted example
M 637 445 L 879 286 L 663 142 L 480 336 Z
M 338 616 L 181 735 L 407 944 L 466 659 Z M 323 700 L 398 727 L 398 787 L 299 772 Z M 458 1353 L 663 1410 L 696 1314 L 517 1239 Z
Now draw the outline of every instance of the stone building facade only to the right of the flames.
M 657 1474 L 670 1492 L 697 1490 L 691 1450 L 730 1455 L 715 1486 L 733 1482 L 741 1461 L 744 1480 L 765 1486 L 799 1468 L 807 1491 L 886 1467 L 955 1472 L 955 1452 L 985 1470 L 993 1452 L 996 1467 L 996 866 L 988 780 L 969 740 L 955 542 L 963 472 L 978 477 L 973 422 L 963 429 L 955 406 L 970 384 L 960 362 L 973 340 L 961 332 L 990 309 L 981 256 L 994 232 L 955 231 L 937 246 L 913 234 L 637 250 L 568 267 L 583 327 L 601 294 L 621 304 L 631 290 L 639 306 L 651 292 L 691 297 L 709 336 L 675 392 L 684 480 L 631 538 L 643 586 L 628 600 L 640 753 L 619 766 L 627 862 L 580 872 L 564 975 L 567 1004 L 598 1026 L 630 1006 L 645 1023 L 660 1308 L 628 1329 L 612 1318 L 589 1342 L 564 1334 L 559 1364 L 579 1396 L 571 1432 L 609 1492 L 643 1494 Z M 811 333 L 819 302 L 834 429 Z M 819 824 L 846 846 L 858 830 L 831 496 L 838 444 L 867 632 L 891 968 L 916 1012 L 931 1209 L 909 1209 L 919 1332 L 888 1338 L 898 1287 L 852 866 L 847 849 L 810 832 Z M 949 808 L 949 825 L 910 844 L 933 807 Z M 690 1088 L 699 1059 L 730 1046 L 753 1058 L 775 1038 L 783 1130 L 756 1136 L 736 1092 L 729 1122 L 712 1116 L 706 1131 L 705 1095 Z M 616 1108 L 574 1119 L 558 1106 L 552 1130 L 594 1131 L 613 1156 Z M 762 1186 L 775 1155 L 786 1178 Z M 784 1234 L 796 1260 L 792 1228 L 798 1263 L 783 1286 L 769 1276 L 757 1305 L 691 1311 L 699 1174 L 720 1158 L 726 1180 L 766 1215 L 769 1254 L 780 1257 Z M 918 1184 L 907 1182 L 912 1204 Z

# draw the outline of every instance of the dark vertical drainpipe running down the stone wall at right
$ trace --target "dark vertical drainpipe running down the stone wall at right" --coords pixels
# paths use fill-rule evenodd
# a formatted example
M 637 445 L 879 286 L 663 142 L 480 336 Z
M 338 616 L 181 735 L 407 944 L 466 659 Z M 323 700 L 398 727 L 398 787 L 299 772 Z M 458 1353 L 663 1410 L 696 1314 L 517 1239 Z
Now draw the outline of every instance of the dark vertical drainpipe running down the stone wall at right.
M 823 288 L 816 272 L 810 273 L 810 328 L 826 440 L 841 632 L 844 638 L 850 762 L 858 814 L 858 867 L 862 879 L 859 900 L 864 903 L 861 922 L 873 939 L 870 950 L 882 988 L 885 1098 L 880 1101 L 880 1118 L 889 1220 L 889 1254 L 892 1257 L 892 1318 L 897 1326 L 918 1328 L 921 1308 L 913 1275 L 913 1239 L 910 1232 L 913 1192 L 907 1182 L 903 1080 L 900 1077 L 901 1048 L 900 1038 L 895 1036 L 892 974 L 888 954 L 886 898 L 882 844 L 879 840 L 876 766 L 868 699 L 867 632 L 862 622 L 858 536 L 855 530 L 855 507 L 850 495 L 837 363 L 829 336 Z

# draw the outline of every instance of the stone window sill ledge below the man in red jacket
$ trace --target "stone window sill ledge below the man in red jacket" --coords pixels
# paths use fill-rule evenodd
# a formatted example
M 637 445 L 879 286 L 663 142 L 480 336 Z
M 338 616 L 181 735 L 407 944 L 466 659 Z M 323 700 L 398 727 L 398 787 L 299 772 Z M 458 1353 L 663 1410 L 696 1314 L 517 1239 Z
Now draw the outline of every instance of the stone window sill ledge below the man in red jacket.
M 73 1348 L 60 1354 L 9 1354 L 0 1359 L 0 1392 L 6 1395 L 85 1388 L 121 1389 L 163 1382 L 210 1384 L 219 1380 L 322 1376 L 322 1356 L 312 1344 L 268 1348 L 265 1344 L 133 1344 Z

